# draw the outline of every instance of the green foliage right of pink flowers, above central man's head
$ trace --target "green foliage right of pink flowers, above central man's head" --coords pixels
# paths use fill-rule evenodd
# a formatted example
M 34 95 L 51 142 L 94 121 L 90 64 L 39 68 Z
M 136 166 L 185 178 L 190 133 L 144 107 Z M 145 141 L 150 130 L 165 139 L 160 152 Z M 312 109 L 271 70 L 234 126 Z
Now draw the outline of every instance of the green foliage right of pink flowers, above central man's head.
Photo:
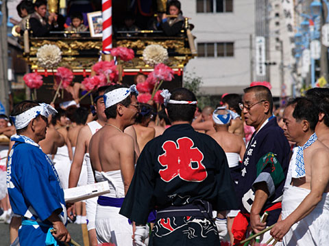
M 185 72 L 183 77 L 183 87 L 191 90 L 197 97 L 197 107 L 203 109 L 206 106 L 212 106 L 210 96 L 200 92 L 200 87 L 204 82 L 201 77 L 198 77 L 195 72 Z

